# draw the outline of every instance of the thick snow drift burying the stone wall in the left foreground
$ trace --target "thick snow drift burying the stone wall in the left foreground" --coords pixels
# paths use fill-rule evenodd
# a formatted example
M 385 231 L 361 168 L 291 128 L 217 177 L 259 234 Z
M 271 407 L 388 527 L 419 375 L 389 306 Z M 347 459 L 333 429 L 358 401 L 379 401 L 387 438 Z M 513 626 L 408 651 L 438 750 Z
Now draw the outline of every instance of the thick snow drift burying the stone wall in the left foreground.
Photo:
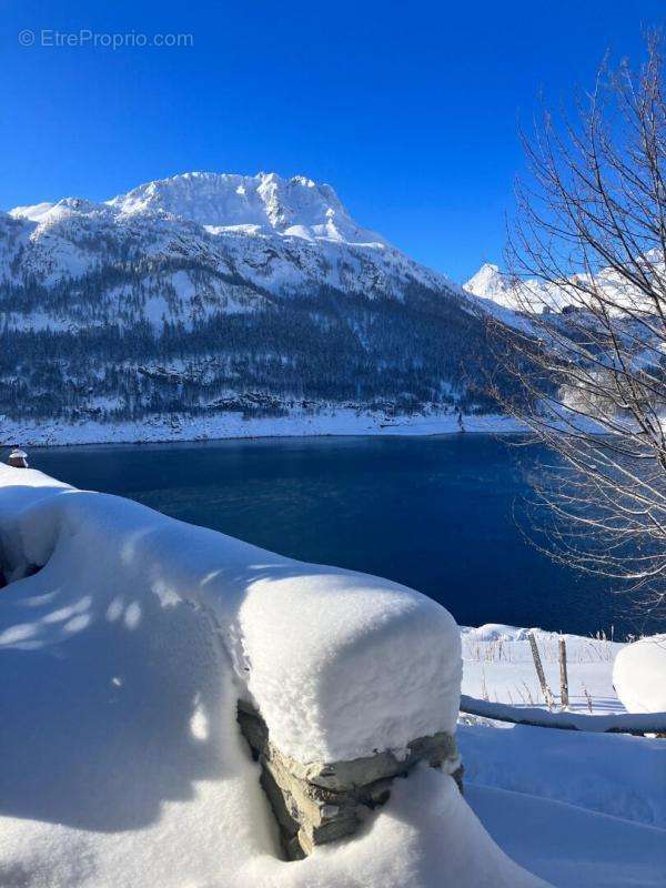
M 236 700 L 301 761 L 453 731 L 460 638 L 430 599 L 6 466 L 0 546 L 0 884 L 542 884 L 425 768 L 352 840 L 278 859 Z

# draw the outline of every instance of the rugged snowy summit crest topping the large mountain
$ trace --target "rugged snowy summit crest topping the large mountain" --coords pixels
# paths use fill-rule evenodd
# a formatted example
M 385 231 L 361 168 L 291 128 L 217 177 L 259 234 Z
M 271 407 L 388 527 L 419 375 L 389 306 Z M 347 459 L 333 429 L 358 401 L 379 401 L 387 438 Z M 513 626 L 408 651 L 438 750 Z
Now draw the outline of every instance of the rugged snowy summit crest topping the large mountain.
M 139 185 L 108 205 L 127 215 L 163 212 L 214 231 L 245 229 L 305 240 L 386 243 L 356 225 L 331 185 L 301 175 L 184 173 Z

